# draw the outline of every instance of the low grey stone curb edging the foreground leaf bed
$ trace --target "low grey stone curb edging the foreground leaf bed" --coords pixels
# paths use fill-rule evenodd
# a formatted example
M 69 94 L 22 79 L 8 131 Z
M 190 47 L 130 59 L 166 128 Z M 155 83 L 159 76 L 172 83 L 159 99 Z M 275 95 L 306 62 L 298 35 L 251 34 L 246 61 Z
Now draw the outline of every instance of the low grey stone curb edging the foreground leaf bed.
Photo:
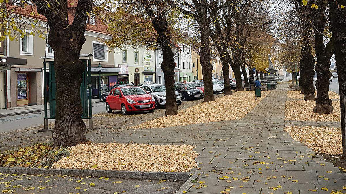
M 143 171 L 106 171 L 92 169 L 69 168 L 29 168 L 29 167 L 0 167 L 0 172 L 5 174 L 62 174 L 72 176 L 93 176 L 110 178 L 145 178 L 153 180 L 180 180 L 187 181 L 191 172 L 143 172 Z

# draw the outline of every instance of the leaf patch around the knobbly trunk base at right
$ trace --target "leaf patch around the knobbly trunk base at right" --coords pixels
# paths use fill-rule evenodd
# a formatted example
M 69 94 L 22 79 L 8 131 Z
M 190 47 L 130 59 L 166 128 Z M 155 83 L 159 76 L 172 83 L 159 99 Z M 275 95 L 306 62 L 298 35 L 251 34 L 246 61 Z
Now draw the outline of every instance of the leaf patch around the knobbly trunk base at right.
M 286 101 L 285 120 L 340 122 L 340 102 L 333 101 L 332 105 L 334 107 L 333 113 L 318 114 L 313 112 L 313 108 L 316 106 L 316 101 Z

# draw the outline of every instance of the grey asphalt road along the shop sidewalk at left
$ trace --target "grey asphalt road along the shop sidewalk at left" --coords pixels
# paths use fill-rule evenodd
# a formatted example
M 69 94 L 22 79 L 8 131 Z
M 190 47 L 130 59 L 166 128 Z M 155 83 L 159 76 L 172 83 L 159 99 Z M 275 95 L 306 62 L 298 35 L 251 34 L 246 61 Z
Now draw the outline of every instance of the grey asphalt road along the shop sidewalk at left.
M 93 114 L 100 113 L 102 111 L 106 111 L 103 102 L 96 102 L 92 104 Z M 0 117 L 0 133 L 43 125 L 43 120 L 44 111 Z M 54 122 L 54 120 L 49 120 L 49 122 Z

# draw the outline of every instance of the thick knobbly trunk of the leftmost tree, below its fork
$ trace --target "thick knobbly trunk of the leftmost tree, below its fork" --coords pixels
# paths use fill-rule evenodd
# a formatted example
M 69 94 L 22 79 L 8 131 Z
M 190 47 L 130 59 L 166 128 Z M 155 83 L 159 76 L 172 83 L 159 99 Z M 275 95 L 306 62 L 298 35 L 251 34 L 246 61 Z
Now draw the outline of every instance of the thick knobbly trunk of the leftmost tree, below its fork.
M 86 141 L 80 96 L 84 64 L 79 59 L 84 42 L 84 33 L 50 28 L 48 43 L 54 49 L 56 79 L 54 147 L 75 146 Z

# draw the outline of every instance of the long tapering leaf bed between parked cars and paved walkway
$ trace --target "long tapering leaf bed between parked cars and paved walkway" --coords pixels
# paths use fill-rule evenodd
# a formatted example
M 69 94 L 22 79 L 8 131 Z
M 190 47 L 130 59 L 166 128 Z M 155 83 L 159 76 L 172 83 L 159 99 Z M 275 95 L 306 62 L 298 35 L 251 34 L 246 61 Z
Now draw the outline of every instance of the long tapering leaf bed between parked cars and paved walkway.
M 163 128 L 241 119 L 270 92 L 261 91 L 261 97 L 257 97 L 255 100 L 254 91 L 237 91 L 233 95 L 223 96 L 215 101 L 200 103 L 181 110 L 177 115 L 159 117 L 131 128 Z

